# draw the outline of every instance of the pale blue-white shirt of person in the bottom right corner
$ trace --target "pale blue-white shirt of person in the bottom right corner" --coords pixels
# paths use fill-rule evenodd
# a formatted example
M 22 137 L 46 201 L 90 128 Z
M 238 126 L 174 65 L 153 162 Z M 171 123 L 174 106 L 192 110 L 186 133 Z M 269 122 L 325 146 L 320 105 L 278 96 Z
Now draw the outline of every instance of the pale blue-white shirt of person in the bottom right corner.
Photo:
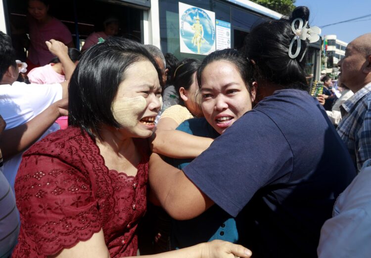
M 321 229 L 319 258 L 371 255 L 371 167 L 363 168 L 338 197 L 333 217 Z

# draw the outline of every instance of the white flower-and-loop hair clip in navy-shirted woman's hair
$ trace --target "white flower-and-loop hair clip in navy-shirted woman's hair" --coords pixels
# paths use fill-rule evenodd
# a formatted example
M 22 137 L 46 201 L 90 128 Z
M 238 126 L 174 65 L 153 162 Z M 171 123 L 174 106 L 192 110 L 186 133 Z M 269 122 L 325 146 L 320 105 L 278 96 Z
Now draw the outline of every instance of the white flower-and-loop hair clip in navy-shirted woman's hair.
M 295 24 L 296 24 L 297 21 L 299 21 L 299 26 L 297 28 L 295 28 Z M 309 43 L 314 43 L 314 42 L 317 42 L 320 39 L 319 34 L 321 34 L 321 29 L 317 26 L 307 28 L 307 25 L 308 25 L 308 21 L 305 22 L 305 24 L 304 24 L 304 21 L 301 18 L 296 18 L 291 23 L 291 30 L 295 34 L 295 36 L 294 36 L 294 38 L 292 38 L 290 46 L 288 48 L 288 56 L 292 59 L 296 58 L 300 53 L 301 40 L 305 41 L 305 40 L 308 39 Z M 296 47 L 295 53 L 292 54 L 292 46 L 293 46 L 295 41 L 297 42 L 297 47 Z M 306 52 L 307 52 L 307 49 L 305 49 L 305 51 L 304 51 L 303 55 L 301 56 L 299 62 L 301 62 L 303 60 L 304 55 L 305 55 Z

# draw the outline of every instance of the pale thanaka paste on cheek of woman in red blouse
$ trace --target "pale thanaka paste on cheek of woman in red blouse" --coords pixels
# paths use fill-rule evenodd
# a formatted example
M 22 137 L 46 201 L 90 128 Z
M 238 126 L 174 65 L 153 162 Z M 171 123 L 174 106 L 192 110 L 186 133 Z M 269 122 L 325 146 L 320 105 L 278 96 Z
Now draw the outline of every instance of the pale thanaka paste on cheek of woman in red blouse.
M 122 97 L 112 103 L 112 114 L 122 127 L 135 127 L 145 111 L 147 102 L 142 96 L 135 98 Z

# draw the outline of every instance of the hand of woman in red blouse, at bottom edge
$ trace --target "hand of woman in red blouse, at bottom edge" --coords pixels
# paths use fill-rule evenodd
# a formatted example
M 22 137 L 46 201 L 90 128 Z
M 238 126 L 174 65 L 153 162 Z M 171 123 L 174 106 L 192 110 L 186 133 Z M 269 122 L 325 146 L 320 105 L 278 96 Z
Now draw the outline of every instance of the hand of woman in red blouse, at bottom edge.
M 222 240 L 202 243 L 201 258 L 249 258 L 252 253 L 247 248 Z

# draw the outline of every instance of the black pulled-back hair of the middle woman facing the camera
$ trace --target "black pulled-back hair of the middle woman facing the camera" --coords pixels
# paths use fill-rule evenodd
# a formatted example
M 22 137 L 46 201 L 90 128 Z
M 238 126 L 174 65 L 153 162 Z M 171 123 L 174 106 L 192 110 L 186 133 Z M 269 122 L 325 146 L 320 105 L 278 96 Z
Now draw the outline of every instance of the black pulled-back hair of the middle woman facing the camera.
M 202 72 L 208 64 L 214 61 L 228 61 L 235 65 L 239 75 L 245 82 L 247 90 L 251 94 L 251 85 L 253 83 L 252 64 L 247 60 L 246 56 L 243 53 L 239 52 L 236 49 L 231 48 L 217 50 L 206 56 L 205 59 L 203 59 L 197 71 L 197 83 L 200 89 L 202 86 L 201 81 Z

